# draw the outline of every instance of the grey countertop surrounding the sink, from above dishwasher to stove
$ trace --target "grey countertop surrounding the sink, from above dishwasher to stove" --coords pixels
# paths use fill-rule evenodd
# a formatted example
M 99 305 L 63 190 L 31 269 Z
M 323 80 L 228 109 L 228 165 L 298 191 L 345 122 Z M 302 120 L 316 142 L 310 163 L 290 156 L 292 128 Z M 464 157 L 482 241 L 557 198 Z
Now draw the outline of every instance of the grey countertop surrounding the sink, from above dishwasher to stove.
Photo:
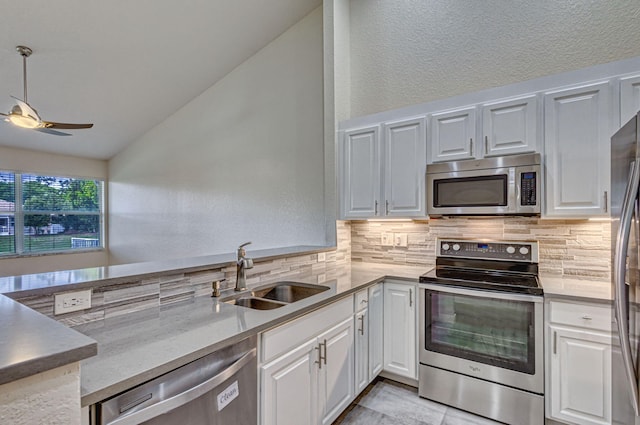
M 277 326 L 385 278 L 418 281 L 424 267 L 353 263 L 288 276 L 330 289 L 274 310 L 252 310 L 210 297 L 148 309 L 74 328 L 98 342 L 81 363 L 82 406 L 88 406 Z M 256 286 L 262 286 L 262 282 Z M 221 298 L 232 295 L 223 292 Z

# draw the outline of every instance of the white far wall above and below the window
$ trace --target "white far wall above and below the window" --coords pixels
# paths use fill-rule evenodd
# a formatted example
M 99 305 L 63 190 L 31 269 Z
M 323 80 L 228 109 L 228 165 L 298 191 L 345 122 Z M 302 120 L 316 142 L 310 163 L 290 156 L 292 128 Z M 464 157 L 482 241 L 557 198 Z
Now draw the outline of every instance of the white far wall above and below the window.
M 70 140 L 69 143 L 73 143 L 73 141 Z M 0 146 L 0 170 L 107 179 L 106 161 L 2 146 Z M 108 264 L 108 261 L 109 255 L 106 250 L 79 254 L 1 258 L 0 276 L 104 266 Z

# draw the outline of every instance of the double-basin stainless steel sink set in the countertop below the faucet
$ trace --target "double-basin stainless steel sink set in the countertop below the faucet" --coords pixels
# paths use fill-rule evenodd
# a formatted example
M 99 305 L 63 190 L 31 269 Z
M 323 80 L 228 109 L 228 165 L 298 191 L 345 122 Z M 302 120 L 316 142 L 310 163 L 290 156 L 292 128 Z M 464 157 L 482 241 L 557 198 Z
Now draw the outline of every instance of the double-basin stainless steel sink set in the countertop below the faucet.
M 295 303 L 296 301 L 304 300 L 328 289 L 328 286 L 323 285 L 282 281 L 256 288 L 249 293 L 226 297 L 221 299 L 221 301 L 254 310 L 272 310 Z

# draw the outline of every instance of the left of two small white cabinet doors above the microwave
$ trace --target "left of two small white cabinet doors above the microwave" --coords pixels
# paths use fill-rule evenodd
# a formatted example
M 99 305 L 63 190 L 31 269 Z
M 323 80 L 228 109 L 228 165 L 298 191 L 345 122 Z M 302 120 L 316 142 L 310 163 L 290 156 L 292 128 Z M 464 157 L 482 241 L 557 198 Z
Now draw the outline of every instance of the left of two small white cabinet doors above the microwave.
M 430 125 L 430 162 L 475 157 L 475 107 L 433 114 Z

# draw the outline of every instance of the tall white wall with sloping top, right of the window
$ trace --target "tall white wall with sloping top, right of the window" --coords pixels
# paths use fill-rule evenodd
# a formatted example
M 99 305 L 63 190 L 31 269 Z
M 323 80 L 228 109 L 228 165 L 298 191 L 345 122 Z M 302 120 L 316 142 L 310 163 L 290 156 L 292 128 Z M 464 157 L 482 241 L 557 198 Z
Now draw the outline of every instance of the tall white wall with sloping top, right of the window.
M 322 42 L 318 8 L 109 161 L 112 264 L 325 243 Z

